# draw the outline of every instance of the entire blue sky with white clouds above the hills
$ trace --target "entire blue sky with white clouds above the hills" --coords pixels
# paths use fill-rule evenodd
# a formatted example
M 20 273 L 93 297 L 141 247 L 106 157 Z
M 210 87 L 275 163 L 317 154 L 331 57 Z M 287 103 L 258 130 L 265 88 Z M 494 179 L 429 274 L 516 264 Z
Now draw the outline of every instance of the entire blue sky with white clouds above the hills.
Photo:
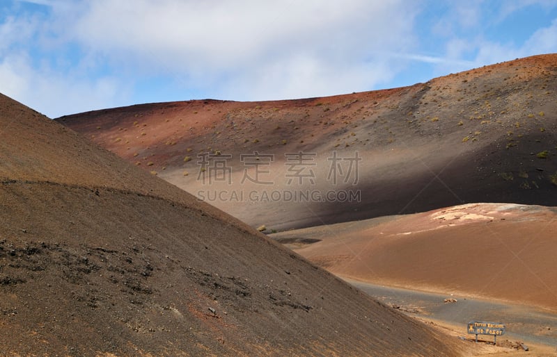
M 557 52 L 557 0 L 0 0 L 0 92 L 49 117 L 393 88 Z

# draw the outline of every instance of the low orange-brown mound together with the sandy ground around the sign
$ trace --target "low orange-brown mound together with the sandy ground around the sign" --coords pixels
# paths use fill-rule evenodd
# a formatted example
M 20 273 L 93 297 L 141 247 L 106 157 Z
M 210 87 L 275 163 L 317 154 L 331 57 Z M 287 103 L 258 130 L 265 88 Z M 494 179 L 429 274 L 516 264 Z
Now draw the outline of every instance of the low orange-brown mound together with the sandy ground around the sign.
M 551 356 L 556 222 L 554 208 L 468 204 L 270 236 L 408 315 L 465 338 L 466 322 L 502 321 L 505 339 Z

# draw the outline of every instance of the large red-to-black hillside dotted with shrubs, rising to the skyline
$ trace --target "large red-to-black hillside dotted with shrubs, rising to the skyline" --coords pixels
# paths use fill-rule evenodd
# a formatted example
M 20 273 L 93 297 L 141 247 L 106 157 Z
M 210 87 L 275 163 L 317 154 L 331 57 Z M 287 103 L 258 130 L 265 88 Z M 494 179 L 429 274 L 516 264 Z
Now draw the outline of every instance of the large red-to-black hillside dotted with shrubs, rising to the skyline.
M 198 180 L 196 154 L 217 151 L 233 156 L 233 185 L 217 182 L 211 189 L 361 190 L 354 202 L 211 202 L 252 226 L 288 229 L 467 202 L 557 206 L 556 94 L 557 55 L 549 54 L 393 90 L 295 101 L 154 103 L 58 120 L 197 196 L 207 186 Z M 240 184 L 240 154 L 254 151 L 274 154 L 264 176 L 274 185 Z M 288 185 L 284 153 L 298 151 L 317 153 L 316 165 L 308 166 L 315 185 Z M 340 158 L 359 152 L 355 187 L 352 180 L 327 180 L 334 151 Z M 544 151 L 547 157 L 538 158 Z

